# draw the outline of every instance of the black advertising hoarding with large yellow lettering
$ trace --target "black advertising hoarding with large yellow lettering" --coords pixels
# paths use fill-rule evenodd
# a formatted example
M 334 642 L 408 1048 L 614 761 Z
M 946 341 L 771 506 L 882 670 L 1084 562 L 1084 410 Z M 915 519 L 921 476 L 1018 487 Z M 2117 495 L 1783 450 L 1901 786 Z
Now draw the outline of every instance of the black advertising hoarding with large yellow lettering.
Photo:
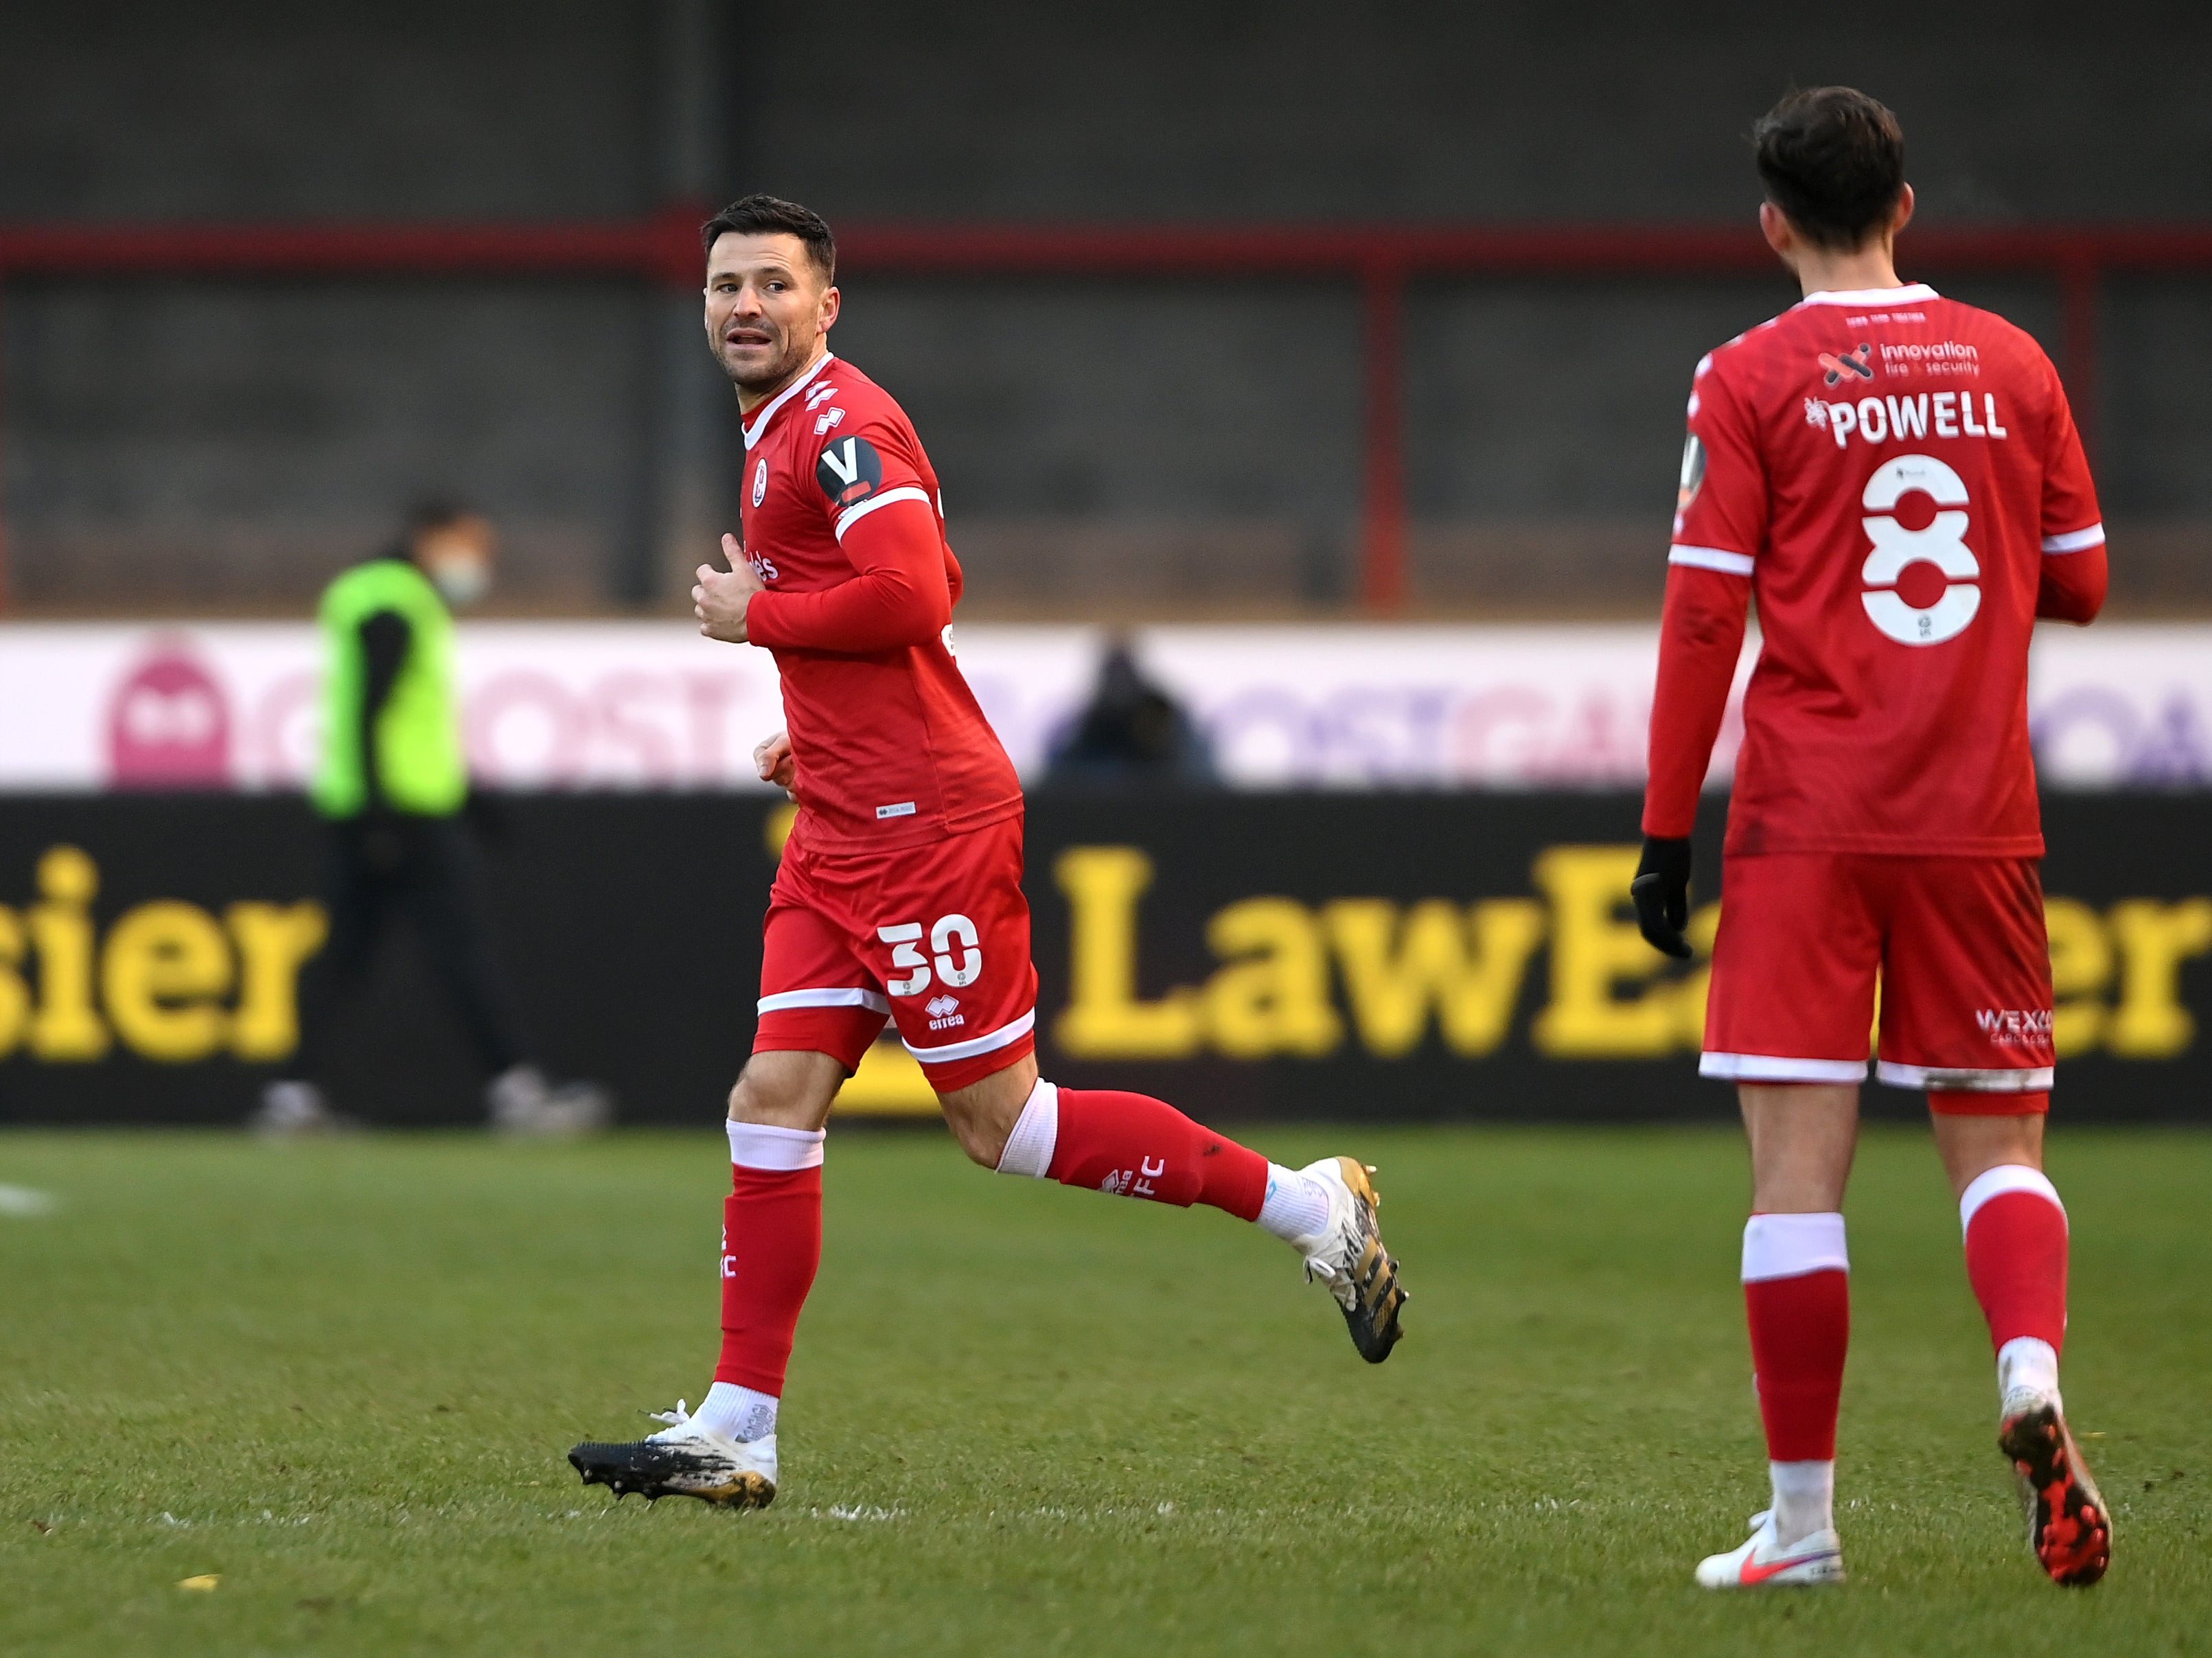
M 726 794 L 507 802 L 487 869 L 529 1024 L 624 1121 L 719 1116 L 785 816 Z M 1717 800 L 1705 820 L 1699 940 Z M 1703 970 L 1626 920 L 1635 822 L 1613 794 L 1040 796 L 1044 1070 L 1221 1121 L 1723 1116 L 1730 1090 L 1697 1077 Z M 2212 1119 L 2212 796 L 2059 796 L 2046 829 L 2059 1110 Z M 319 833 L 288 796 L 0 802 L 0 1121 L 243 1116 L 296 1041 Z M 369 1121 L 480 1119 L 407 942 L 338 1054 L 338 1103 Z M 896 1043 L 845 1105 L 931 1110 Z

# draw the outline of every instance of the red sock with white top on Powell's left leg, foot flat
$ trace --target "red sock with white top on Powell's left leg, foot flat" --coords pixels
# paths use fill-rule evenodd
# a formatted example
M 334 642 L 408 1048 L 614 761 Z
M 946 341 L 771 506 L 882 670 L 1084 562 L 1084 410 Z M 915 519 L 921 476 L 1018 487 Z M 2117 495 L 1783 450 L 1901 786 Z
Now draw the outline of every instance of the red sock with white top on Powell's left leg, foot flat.
M 1851 1276 L 1840 1214 L 1761 1214 L 1743 1229 L 1743 1309 L 1770 1461 L 1834 1461 Z

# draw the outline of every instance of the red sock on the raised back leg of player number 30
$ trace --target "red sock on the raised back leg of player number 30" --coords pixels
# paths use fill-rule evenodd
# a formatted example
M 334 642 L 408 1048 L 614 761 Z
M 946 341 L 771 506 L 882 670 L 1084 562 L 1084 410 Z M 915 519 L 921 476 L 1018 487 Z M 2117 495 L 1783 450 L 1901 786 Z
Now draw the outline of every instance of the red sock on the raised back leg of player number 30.
M 1102 1088 L 1060 1090 L 1060 1134 L 1051 1176 L 1188 1209 L 1210 1203 L 1259 1220 L 1267 1158 L 1199 1127 L 1164 1099 Z

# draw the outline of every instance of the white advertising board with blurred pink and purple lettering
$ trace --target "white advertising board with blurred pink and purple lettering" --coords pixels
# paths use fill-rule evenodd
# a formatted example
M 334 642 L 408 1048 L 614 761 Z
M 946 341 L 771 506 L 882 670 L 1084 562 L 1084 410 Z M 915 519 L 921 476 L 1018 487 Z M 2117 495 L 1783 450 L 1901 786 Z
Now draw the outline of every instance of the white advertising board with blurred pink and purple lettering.
M 1031 783 L 1106 643 L 1093 628 L 958 630 Z M 1237 789 L 1644 780 L 1655 626 L 1141 628 L 1130 643 Z M 684 621 L 465 623 L 460 676 L 469 765 L 498 789 L 759 791 L 752 745 L 783 723 L 768 652 Z M 2212 785 L 2212 628 L 2044 628 L 2028 716 L 2051 787 Z M 0 626 L 0 791 L 296 789 L 314 727 L 301 623 Z M 1717 787 L 1739 741 L 1732 707 Z

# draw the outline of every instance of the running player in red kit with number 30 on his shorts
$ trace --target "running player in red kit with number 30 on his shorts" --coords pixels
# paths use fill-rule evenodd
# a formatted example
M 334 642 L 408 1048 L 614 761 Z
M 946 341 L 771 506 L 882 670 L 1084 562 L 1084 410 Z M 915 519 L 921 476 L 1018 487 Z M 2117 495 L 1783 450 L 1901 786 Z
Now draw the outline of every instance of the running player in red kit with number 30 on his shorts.
M 697 1415 L 582 1444 L 617 1497 L 761 1508 L 776 1410 L 823 1225 L 823 1138 L 885 1019 L 962 1150 L 1000 1174 L 1155 1203 L 1206 1203 L 1285 1240 L 1380 1364 L 1398 1262 L 1369 1169 L 1270 1163 L 1144 1094 L 1037 1074 L 1037 973 L 1022 898 L 1022 791 L 960 668 L 960 564 L 905 411 L 830 354 L 836 243 L 807 208 L 745 197 L 706 223 L 706 334 L 745 429 L 743 542 L 699 568 L 699 630 L 776 657 L 787 732 L 759 772 L 799 816 L 763 928 L 752 1059 L 730 1090 L 721 1360 Z

